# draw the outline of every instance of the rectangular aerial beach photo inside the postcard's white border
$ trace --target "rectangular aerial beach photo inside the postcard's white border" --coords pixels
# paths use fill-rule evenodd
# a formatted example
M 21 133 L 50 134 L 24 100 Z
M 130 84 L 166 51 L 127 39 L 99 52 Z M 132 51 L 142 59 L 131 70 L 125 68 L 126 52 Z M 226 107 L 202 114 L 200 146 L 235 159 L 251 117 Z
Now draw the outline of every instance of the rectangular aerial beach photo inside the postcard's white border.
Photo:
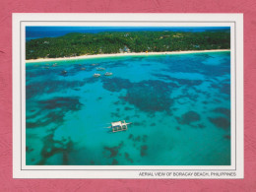
M 27 165 L 230 165 L 229 27 L 26 27 Z

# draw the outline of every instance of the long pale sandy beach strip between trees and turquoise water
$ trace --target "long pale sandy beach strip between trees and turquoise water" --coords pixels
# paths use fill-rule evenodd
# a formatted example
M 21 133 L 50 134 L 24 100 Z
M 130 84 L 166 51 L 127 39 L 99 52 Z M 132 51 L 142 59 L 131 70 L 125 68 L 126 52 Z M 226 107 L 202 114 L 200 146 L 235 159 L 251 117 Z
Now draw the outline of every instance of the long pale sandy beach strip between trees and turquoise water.
M 132 52 L 132 53 L 111 53 L 111 54 L 96 54 L 96 55 L 81 55 L 76 57 L 60 57 L 60 58 L 39 58 L 26 60 L 26 63 L 49 62 L 62 60 L 79 60 L 79 59 L 94 59 L 103 57 L 115 56 L 145 56 L 145 55 L 165 55 L 165 54 L 187 54 L 187 53 L 202 53 L 202 52 L 223 52 L 230 49 L 212 49 L 212 50 L 184 50 L 184 51 L 165 51 L 165 52 Z

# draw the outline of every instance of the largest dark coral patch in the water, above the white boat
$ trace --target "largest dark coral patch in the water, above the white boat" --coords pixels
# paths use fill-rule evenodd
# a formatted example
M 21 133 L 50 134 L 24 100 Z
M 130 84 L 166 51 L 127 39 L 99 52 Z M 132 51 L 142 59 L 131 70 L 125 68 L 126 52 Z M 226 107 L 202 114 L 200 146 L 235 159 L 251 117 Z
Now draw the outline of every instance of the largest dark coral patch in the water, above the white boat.
M 129 80 L 121 78 L 102 79 L 103 88 L 110 92 L 120 92 L 127 90 L 126 96 L 119 96 L 130 104 L 147 112 L 167 111 L 172 104 L 170 99 L 171 85 L 161 81 L 142 81 L 131 83 Z M 125 107 L 125 110 L 131 108 Z

